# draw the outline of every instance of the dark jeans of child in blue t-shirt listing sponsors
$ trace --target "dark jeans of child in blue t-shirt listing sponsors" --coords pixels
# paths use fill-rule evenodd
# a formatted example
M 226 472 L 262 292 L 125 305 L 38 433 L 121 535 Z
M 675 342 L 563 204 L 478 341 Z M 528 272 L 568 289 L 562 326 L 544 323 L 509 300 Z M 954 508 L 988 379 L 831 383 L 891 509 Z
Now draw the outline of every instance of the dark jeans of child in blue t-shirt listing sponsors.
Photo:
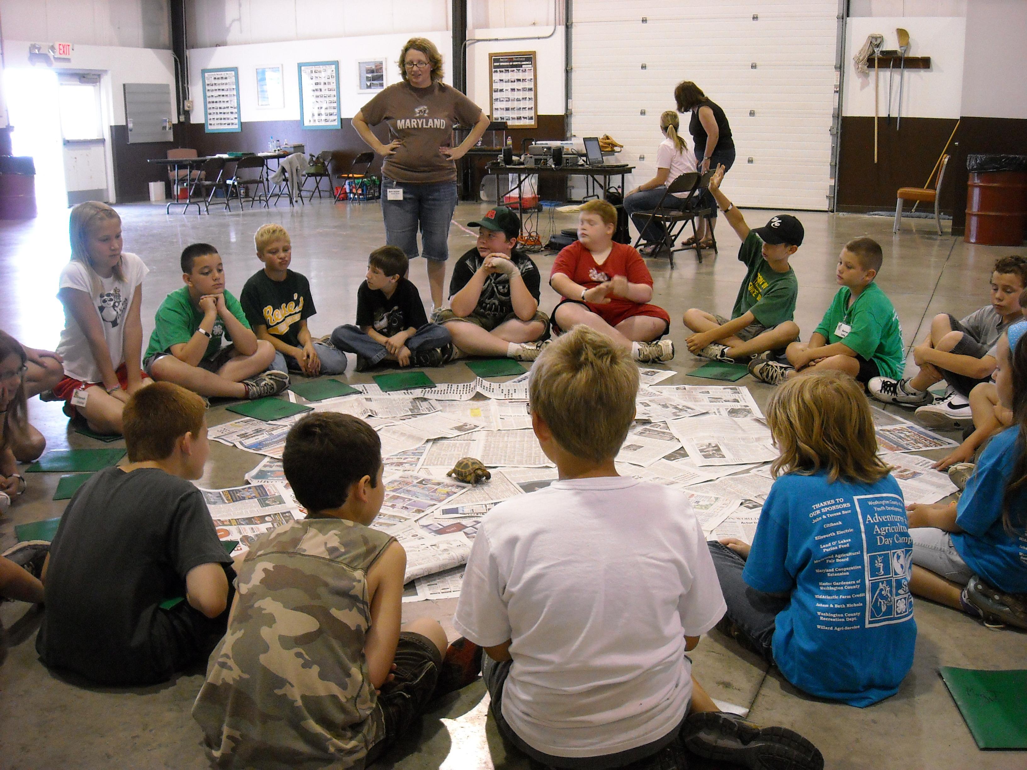
M 709 546 L 717 579 L 720 581 L 720 590 L 727 605 L 724 617 L 734 623 L 749 647 L 772 663 L 771 641 L 777 613 L 788 607 L 791 600 L 750 587 L 741 579 L 746 560 L 723 543 L 711 541 Z

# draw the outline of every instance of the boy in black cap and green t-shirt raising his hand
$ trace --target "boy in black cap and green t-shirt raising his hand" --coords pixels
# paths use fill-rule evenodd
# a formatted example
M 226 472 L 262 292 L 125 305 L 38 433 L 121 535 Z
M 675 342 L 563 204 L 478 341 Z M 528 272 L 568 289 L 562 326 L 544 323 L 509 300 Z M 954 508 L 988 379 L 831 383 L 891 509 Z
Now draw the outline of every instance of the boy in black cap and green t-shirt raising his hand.
M 734 363 L 799 339 L 799 328 L 792 320 L 799 281 L 788 260 L 802 245 L 804 231 L 802 223 L 787 214 L 772 217 L 766 227 L 750 230 L 741 211 L 721 192 L 723 179 L 724 167 L 717 166 L 710 192 L 741 238 L 738 261 L 749 271 L 730 319 L 697 308 L 685 313 L 685 325 L 695 333 L 685 342 L 693 355 Z

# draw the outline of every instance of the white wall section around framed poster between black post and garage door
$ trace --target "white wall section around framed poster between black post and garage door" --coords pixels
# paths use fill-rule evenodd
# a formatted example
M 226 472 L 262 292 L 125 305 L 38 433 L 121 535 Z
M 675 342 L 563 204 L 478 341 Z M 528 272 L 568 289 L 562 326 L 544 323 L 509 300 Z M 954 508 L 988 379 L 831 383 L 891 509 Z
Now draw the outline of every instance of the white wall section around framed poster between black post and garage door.
M 551 9 L 551 6 L 550 6 Z M 551 16 L 551 13 L 550 13 Z M 467 38 L 518 38 L 545 36 L 553 32 L 553 24 L 546 28 L 507 27 L 500 29 L 468 30 Z M 537 85 L 538 114 L 563 115 L 566 112 L 564 87 L 564 27 L 557 27 L 556 33 L 544 40 L 505 40 L 473 43 L 467 53 L 467 95 L 483 110 L 489 112 L 491 98 L 489 91 L 489 53 L 535 51 L 535 82 Z

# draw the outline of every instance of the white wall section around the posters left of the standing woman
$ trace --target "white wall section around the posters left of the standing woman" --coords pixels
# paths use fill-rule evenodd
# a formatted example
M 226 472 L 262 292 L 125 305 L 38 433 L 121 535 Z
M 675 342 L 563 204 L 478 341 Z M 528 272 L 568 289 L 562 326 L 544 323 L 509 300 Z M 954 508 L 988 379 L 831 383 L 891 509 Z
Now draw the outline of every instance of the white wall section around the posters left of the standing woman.
M 420 31 L 444 54 L 445 81 L 452 83 L 449 56 L 453 42 L 449 31 Z M 200 71 L 217 67 L 237 67 L 239 70 L 239 108 L 243 122 L 264 120 L 300 119 L 300 62 L 339 62 L 339 115 L 351 118 L 375 95 L 374 91 L 357 88 L 356 63 L 385 57 L 385 84 L 398 82 L 397 60 L 410 33 L 391 35 L 365 35 L 362 37 L 332 38 L 325 40 L 293 40 L 275 43 L 252 43 L 189 51 L 189 86 L 193 101 L 190 113 L 194 123 L 203 122 L 203 89 Z M 264 109 L 257 107 L 257 68 L 281 65 L 284 86 L 284 107 Z M 482 105 L 487 108 L 487 105 Z M 281 139 L 289 139 L 283 137 Z

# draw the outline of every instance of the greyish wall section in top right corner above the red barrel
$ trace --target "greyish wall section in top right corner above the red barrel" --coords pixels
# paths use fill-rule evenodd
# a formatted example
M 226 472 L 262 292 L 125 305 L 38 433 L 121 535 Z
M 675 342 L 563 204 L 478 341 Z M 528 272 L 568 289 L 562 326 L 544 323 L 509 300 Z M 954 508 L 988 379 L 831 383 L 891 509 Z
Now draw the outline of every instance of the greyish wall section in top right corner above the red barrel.
M 966 8 L 962 114 L 1027 119 L 1027 2 L 973 0 Z

